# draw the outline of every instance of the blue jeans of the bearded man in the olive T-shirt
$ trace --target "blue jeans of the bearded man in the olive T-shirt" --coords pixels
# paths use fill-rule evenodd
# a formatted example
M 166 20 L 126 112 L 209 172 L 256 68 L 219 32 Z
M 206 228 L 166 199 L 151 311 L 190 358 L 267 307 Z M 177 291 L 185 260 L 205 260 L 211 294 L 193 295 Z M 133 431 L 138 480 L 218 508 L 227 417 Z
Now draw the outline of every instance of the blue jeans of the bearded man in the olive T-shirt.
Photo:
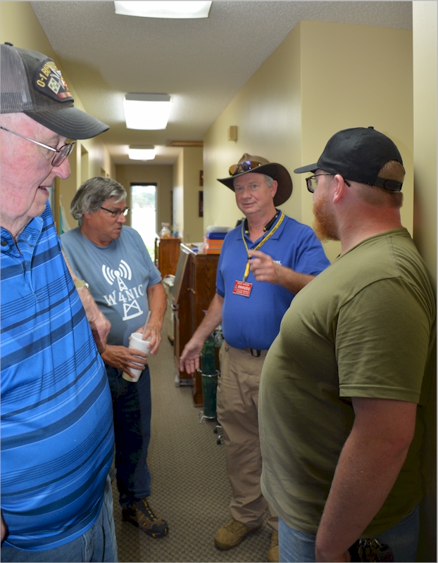
M 315 561 L 315 536 L 294 530 L 280 518 L 278 521 L 280 562 Z M 398 524 L 377 536 L 377 540 L 389 545 L 395 562 L 413 562 L 417 553 L 419 527 L 420 510 L 417 505 Z

